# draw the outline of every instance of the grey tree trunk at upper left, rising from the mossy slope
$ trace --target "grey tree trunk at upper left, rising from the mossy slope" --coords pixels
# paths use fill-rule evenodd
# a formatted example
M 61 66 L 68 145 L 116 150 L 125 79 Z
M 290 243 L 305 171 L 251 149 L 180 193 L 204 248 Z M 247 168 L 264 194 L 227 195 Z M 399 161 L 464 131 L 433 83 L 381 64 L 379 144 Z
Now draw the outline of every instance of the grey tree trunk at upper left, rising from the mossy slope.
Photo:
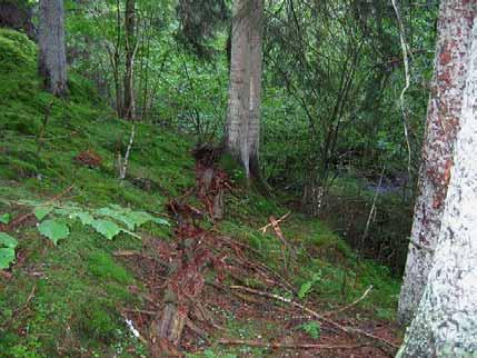
M 54 96 L 67 91 L 67 54 L 62 0 L 40 0 L 39 71 Z

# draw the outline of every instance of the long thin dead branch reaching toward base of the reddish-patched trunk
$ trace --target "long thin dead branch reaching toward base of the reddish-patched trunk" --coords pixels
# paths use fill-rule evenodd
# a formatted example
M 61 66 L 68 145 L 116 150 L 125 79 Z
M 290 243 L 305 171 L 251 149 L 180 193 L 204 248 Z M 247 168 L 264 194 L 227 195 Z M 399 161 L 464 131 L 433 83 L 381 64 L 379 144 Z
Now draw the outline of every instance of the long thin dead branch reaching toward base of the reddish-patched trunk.
M 255 295 L 262 296 L 262 297 L 272 298 L 277 301 L 281 301 L 281 302 L 295 306 L 297 308 L 300 308 L 300 309 L 305 310 L 307 314 L 310 314 L 315 319 L 322 321 L 322 322 L 326 322 L 326 324 L 337 328 L 338 330 L 341 330 L 348 335 L 356 335 L 362 339 L 367 339 L 367 340 L 375 342 L 377 345 L 377 347 L 379 347 L 381 350 L 386 351 L 389 355 L 394 356 L 396 350 L 399 348 L 397 345 L 395 345 L 395 344 L 392 344 L 386 339 L 382 339 L 378 336 L 375 336 L 372 334 L 368 334 L 368 332 L 366 332 L 359 328 L 341 326 L 340 324 L 335 322 L 334 320 L 324 317 L 322 315 L 314 311 L 312 309 L 305 307 L 301 304 L 298 304 L 297 301 L 294 301 L 292 299 L 289 299 L 289 298 L 286 298 L 286 297 L 279 296 L 279 295 L 275 295 L 275 294 L 259 291 L 259 290 L 256 290 L 256 289 L 252 289 L 249 287 L 244 287 L 244 286 L 231 286 L 230 288 L 242 290 L 242 291 L 250 292 L 250 294 L 255 294 Z

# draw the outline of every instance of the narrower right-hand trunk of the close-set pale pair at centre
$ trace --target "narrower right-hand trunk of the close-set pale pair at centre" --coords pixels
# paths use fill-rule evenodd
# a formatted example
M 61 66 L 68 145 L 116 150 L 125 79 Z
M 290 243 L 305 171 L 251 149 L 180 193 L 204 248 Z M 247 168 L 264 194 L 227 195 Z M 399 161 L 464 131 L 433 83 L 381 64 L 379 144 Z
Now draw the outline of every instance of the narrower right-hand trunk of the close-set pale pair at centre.
M 248 128 L 249 168 L 254 178 L 260 178 L 260 103 L 262 67 L 264 2 L 254 0 L 250 24 L 250 117 Z

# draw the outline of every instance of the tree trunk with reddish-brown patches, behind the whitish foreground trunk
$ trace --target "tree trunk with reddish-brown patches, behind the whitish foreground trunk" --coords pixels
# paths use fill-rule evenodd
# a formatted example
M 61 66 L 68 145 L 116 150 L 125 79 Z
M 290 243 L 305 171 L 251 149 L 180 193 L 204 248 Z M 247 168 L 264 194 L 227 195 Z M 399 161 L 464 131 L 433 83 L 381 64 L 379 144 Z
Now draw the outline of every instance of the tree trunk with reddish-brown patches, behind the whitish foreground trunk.
M 440 230 L 476 8 L 475 1 L 465 0 L 445 0 L 440 6 L 419 197 L 399 298 L 398 318 L 403 324 L 413 319 L 419 305 Z

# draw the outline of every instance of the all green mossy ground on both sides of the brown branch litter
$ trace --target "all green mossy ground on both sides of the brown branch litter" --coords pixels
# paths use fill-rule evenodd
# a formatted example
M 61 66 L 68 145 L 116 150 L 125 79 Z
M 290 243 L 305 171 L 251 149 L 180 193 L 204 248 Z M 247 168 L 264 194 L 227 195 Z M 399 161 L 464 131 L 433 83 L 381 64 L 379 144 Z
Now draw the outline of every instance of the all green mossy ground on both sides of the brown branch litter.
M 165 211 L 169 198 L 193 186 L 191 143 L 185 136 L 140 123 L 127 179 L 119 181 L 117 156 L 125 153 L 131 123 L 118 120 L 91 84 L 74 73 L 70 73 L 69 91 L 66 99 L 43 91 L 36 73 L 34 44 L 18 32 L 0 30 L 0 213 L 14 217 L 27 210 L 16 201 L 47 201 L 70 186 L 64 200 L 90 208 L 118 203 L 157 213 Z M 74 160 L 87 150 L 101 157 L 98 167 Z M 242 176 L 235 170 L 232 178 L 240 181 Z M 248 242 L 257 250 L 257 260 L 281 271 L 279 241 L 257 229 L 270 215 L 279 217 L 286 211 L 271 199 L 238 189 L 228 196 L 227 219 L 218 229 Z M 171 237 L 171 230 L 155 226 L 142 230 L 163 239 Z M 306 300 L 332 309 L 374 285 L 369 298 L 359 306 L 360 312 L 392 318 L 398 285 L 385 268 L 359 260 L 317 220 L 294 213 L 282 230 L 297 248 L 295 259 L 300 262 L 287 274 L 292 284 L 300 287 L 320 272 Z M 12 236 L 20 246 L 11 278 L 0 278 L 0 357 L 147 356 L 146 347 L 130 335 L 121 316 L 123 307 L 143 306 L 128 289 L 140 289 L 141 282 L 112 255 L 119 249 L 140 249 L 140 240 L 120 235 L 107 241 L 79 222 L 56 247 L 31 226 Z M 265 331 L 279 329 L 239 321 L 230 315 L 227 335 L 266 337 Z M 213 345 L 199 356 L 241 355 L 242 349 Z M 247 354 L 258 357 L 266 350 Z

